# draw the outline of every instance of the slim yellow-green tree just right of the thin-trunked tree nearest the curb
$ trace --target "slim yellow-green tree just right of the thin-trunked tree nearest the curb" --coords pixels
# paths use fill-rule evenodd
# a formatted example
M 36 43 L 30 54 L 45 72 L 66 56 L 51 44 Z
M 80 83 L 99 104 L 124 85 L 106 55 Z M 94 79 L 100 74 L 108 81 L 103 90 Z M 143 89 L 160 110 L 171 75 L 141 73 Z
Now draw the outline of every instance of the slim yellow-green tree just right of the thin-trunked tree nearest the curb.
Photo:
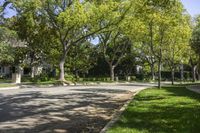
M 171 81 L 174 85 L 174 73 L 178 65 L 188 62 L 189 40 L 191 37 L 190 17 L 181 15 L 177 25 L 170 27 L 166 34 L 166 48 L 163 52 L 164 61 L 171 70 Z

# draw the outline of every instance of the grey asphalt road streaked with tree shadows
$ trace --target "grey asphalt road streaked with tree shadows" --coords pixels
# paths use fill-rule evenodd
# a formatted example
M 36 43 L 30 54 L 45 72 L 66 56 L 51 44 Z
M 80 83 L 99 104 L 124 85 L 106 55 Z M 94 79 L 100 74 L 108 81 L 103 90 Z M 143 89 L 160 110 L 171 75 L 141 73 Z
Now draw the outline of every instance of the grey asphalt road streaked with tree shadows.
M 0 91 L 0 133 L 97 133 L 149 84 Z

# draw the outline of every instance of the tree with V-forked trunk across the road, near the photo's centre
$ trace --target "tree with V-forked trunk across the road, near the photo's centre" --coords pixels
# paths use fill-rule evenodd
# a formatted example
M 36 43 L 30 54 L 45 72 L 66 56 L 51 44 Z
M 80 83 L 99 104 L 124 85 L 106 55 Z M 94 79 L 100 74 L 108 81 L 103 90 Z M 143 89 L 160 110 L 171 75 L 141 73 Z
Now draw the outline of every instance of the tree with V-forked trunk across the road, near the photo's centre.
M 142 22 L 136 16 L 141 12 L 145 6 L 146 1 L 129 1 L 127 8 L 129 9 L 124 16 L 123 20 L 118 25 L 113 25 L 107 28 L 104 32 L 98 34 L 100 40 L 100 49 L 103 56 L 110 67 L 110 78 L 114 81 L 114 70 L 119 65 L 121 60 L 127 53 L 131 52 L 131 45 L 134 45 L 140 36 Z M 119 10 L 118 14 L 123 12 Z M 118 16 L 118 15 L 116 15 Z M 114 20 L 116 16 L 112 16 Z M 105 22 L 100 22 L 99 25 L 109 23 L 112 19 L 107 18 Z

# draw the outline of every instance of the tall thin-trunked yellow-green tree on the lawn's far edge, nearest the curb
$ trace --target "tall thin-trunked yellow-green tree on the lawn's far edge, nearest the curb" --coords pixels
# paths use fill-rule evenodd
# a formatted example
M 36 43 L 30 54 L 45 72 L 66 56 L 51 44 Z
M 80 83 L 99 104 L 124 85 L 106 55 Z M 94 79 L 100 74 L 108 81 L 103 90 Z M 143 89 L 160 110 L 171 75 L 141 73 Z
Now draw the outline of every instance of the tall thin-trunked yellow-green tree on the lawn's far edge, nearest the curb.
M 177 18 L 183 12 L 183 6 L 180 1 L 149 1 L 145 14 L 143 14 L 146 23 L 145 43 L 151 49 L 155 59 L 158 62 L 158 88 L 161 88 L 161 68 L 163 61 L 163 51 L 167 45 L 167 33 L 171 27 L 176 26 Z M 168 32 L 169 31 L 169 32 Z

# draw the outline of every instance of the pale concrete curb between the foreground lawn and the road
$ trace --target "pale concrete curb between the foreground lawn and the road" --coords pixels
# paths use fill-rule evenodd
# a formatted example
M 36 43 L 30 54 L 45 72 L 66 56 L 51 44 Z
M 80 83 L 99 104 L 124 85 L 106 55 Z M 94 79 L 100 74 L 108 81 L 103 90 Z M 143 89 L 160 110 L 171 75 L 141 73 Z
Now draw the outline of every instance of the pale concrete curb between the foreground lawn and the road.
M 142 90 L 145 90 L 147 88 L 143 88 L 141 90 L 138 90 L 137 92 L 135 92 L 133 94 L 133 96 L 123 105 L 123 107 L 115 112 L 113 115 L 112 115 L 112 118 L 111 120 L 106 124 L 106 126 L 100 131 L 100 133 L 106 133 L 108 131 L 109 128 L 111 128 L 120 118 L 120 116 L 122 115 L 122 113 L 125 111 L 125 109 L 128 107 L 128 105 L 131 103 L 131 101 L 134 99 L 134 97 L 140 93 Z

